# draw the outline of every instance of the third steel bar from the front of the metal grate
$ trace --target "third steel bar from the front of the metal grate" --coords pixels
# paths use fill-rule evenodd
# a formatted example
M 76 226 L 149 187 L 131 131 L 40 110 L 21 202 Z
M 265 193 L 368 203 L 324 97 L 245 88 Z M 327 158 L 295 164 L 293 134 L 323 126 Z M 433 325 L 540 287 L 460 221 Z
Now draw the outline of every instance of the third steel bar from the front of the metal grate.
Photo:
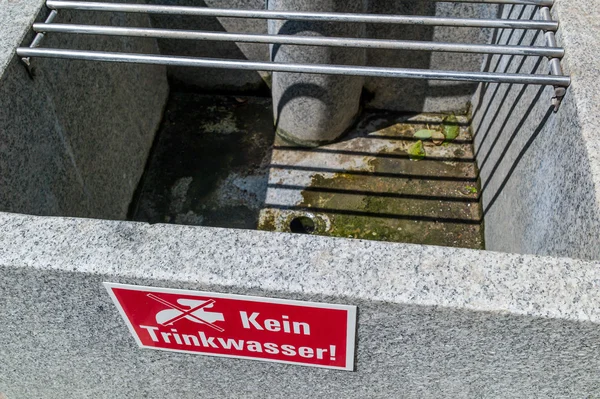
M 205 17 L 256 18 L 295 21 L 358 22 L 380 24 L 454 26 L 472 28 L 512 28 L 556 30 L 556 21 L 523 21 L 508 19 L 442 18 L 409 15 L 347 14 L 303 11 L 238 10 L 207 7 L 167 6 L 150 4 L 98 3 L 87 1 L 48 0 L 55 10 L 114 11 L 146 14 L 195 15 Z

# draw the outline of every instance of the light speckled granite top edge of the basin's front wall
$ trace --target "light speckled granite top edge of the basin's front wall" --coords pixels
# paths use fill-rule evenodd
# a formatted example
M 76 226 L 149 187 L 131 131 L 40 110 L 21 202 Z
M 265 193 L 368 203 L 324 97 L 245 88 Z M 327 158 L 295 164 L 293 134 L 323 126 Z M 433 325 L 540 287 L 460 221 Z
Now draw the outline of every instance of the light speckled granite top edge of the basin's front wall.
M 600 322 L 599 262 L 466 249 L 0 213 L 0 266 Z

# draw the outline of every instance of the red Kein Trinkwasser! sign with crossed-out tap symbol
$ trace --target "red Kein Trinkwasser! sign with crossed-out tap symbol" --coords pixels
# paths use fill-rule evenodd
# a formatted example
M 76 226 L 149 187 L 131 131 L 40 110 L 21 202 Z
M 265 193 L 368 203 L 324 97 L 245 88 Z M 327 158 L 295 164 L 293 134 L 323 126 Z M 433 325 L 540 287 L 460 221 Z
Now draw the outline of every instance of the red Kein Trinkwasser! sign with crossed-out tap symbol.
M 140 347 L 354 370 L 355 306 L 104 286 Z

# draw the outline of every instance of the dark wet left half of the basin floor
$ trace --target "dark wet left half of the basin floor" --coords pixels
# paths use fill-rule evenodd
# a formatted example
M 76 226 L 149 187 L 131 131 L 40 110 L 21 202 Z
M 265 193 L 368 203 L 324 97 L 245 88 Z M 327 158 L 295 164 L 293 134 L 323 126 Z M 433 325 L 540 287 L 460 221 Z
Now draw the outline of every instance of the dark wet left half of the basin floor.
M 131 218 L 255 229 L 273 137 L 268 98 L 172 93 Z

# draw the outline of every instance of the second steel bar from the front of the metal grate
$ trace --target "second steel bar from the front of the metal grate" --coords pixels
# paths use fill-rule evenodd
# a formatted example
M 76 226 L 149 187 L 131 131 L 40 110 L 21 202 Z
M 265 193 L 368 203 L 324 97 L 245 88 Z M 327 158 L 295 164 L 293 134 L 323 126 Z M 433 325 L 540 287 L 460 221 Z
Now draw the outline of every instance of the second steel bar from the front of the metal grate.
M 380 40 L 359 38 L 337 38 L 316 36 L 286 36 L 286 35 L 259 35 L 241 33 L 201 32 L 191 30 L 153 29 L 153 28 L 125 28 L 113 26 L 71 25 L 71 24 L 34 24 L 35 31 L 53 33 L 78 33 L 88 35 L 152 37 L 160 39 L 186 39 L 208 40 L 238 43 L 268 43 L 292 44 L 302 46 L 332 46 L 373 48 L 389 50 L 423 50 L 443 51 L 453 53 L 477 54 L 513 54 L 534 55 L 546 57 L 562 57 L 564 50 L 561 48 L 526 47 L 526 46 L 501 46 L 462 43 L 435 43 L 407 40 Z

